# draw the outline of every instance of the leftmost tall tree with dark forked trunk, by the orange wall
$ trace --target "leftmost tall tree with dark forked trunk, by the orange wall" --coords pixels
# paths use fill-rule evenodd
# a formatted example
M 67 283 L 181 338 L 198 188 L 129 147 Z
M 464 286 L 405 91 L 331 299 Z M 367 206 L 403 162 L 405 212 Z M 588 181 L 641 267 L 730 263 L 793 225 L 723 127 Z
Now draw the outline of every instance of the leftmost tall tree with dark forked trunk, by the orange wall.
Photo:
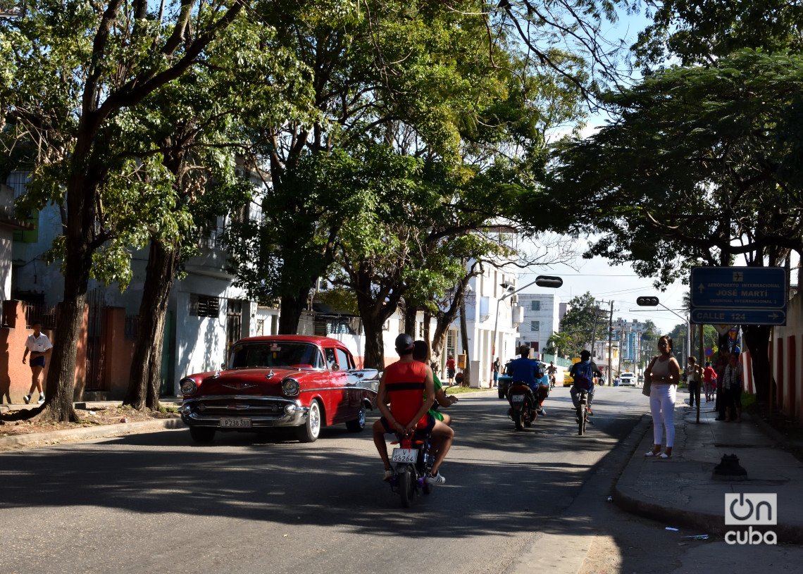
M 183 0 L 152 12 L 144 0 L 45 0 L 26 18 L 0 23 L 2 116 L 38 146 L 39 189 L 67 206 L 64 296 L 43 417 L 77 420 L 75 352 L 93 257 L 116 236 L 99 222 L 123 161 L 126 112 L 184 75 L 242 11 L 241 2 Z

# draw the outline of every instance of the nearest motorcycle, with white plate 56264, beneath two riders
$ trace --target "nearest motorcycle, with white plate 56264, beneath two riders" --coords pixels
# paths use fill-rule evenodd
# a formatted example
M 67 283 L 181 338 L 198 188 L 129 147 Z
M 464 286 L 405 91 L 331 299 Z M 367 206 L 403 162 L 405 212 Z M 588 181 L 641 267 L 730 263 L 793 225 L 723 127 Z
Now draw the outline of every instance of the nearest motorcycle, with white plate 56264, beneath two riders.
M 393 449 L 390 457 L 390 462 L 393 462 L 390 490 L 402 497 L 402 508 L 410 508 L 418 491 L 425 495 L 432 491 L 432 486 L 424 479 L 434 462 L 432 436 L 417 429 L 412 436 L 397 435 L 397 439 L 391 443 L 398 448 Z

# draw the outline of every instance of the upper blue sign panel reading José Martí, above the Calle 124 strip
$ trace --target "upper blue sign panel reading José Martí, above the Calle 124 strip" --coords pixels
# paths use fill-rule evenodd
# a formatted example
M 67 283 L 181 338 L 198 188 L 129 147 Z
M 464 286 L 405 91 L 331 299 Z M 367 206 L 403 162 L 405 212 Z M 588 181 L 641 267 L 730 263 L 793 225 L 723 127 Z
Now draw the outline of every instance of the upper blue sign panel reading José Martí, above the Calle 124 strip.
M 785 309 L 781 267 L 692 267 L 691 308 Z

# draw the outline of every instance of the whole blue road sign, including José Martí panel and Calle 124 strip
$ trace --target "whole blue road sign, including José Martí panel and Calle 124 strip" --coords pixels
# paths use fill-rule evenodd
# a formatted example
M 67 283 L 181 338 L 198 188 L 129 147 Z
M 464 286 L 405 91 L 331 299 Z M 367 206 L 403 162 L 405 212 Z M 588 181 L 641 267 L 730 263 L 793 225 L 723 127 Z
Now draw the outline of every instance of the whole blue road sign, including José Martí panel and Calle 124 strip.
M 781 267 L 692 267 L 691 322 L 786 324 L 786 271 Z

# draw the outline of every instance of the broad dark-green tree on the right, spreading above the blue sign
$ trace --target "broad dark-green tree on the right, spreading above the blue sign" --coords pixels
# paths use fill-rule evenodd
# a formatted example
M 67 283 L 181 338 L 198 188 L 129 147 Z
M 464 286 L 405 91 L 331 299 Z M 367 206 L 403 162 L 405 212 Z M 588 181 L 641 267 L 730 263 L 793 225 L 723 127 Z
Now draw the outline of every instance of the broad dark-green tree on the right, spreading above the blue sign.
M 622 119 L 556 153 L 553 221 L 596 230 L 587 256 L 630 261 L 657 287 L 693 265 L 741 255 L 772 266 L 800 254 L 801 82 L 800 57 L 741 51 L 610 93 Z M 763 398 L 768 328 L 745 332 Z

